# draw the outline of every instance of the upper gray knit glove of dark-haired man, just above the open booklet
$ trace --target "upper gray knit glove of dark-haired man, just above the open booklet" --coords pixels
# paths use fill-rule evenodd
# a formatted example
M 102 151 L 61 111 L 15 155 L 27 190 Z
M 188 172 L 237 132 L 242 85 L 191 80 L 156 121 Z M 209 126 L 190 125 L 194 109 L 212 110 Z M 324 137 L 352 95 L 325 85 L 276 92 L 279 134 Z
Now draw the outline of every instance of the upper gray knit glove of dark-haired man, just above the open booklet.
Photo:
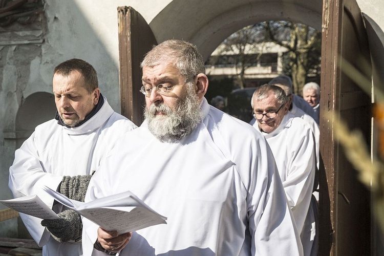
M 86 197 L 88 184 L 92 178 L 92 175 L 77 175 L 77 176 L 64 176 L 62 177 L 59 191 L 64 196 L 84 202 Z

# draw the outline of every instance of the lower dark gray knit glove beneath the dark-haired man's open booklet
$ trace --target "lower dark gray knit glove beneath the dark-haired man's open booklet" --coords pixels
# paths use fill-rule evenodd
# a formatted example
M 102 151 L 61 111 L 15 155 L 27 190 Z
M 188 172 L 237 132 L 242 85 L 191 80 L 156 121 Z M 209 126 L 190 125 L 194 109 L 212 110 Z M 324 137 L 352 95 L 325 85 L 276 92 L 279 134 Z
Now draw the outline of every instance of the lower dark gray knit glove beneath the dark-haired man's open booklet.
M 47 227 L 52 237 L 60 243 L 81 238 L 81 217 L 74 210 L 65 210 L 58 214 L 60 219 L 42 220 L 41 225 Z

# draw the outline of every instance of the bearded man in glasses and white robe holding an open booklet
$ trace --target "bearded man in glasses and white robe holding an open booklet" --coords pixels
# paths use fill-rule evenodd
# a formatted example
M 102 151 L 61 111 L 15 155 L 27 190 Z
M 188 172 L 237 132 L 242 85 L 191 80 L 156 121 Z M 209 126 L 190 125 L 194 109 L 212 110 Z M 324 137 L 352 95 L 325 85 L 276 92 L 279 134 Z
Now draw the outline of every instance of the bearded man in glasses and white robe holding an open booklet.
M 83 219 L 84 254 L 302 255 L 265 138 L 207 103 L 196 47 L 164 41 L 141 67 L 145 120 L 101 164 L 86 202 L 130 190 L 167 224 L 126 235 Z

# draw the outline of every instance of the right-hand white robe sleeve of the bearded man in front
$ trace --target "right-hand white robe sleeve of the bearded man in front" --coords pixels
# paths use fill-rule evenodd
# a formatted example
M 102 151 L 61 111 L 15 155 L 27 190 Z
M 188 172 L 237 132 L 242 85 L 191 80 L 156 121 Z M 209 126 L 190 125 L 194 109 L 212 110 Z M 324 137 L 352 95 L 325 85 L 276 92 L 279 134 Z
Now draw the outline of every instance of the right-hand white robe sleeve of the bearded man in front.
M 300 237 L 272 152 L 265 140 L 258 141 L 258 156 L 252 162 L 254 177 L 247 201 L 252 255 L 303 255 Z

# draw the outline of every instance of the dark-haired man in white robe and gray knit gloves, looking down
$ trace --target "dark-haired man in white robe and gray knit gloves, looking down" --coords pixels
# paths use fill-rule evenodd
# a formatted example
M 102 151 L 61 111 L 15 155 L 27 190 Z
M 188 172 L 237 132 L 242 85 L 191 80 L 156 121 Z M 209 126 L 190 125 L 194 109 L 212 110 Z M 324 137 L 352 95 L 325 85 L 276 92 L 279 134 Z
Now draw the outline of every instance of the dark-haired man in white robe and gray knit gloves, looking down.
M 60 219 L 43 221 L 20 213 L 43 255 L 82 255 L 80 216 L 54 204 L 43 187 L 83 201 L 91 174 L 136 125 L 113 111 L 100 93 L 96 70 L 84 60 L 70 59 L 54 69 L 53 94 L 56 117 L 38 125 L 16 150 L 9 188 L 15 198 L 38 195 L 58 213 Z

